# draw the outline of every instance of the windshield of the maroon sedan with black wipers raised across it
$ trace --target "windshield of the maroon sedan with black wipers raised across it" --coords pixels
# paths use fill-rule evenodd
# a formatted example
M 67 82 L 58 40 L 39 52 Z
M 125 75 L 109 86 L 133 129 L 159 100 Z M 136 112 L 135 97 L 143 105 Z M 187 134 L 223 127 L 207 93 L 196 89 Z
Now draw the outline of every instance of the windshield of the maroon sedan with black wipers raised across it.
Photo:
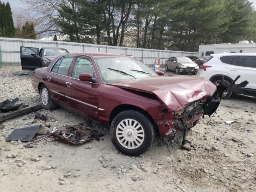
M 132 58 L 96 58 L 95 62 L 104 83 L 157 75 L 144 63 Z

